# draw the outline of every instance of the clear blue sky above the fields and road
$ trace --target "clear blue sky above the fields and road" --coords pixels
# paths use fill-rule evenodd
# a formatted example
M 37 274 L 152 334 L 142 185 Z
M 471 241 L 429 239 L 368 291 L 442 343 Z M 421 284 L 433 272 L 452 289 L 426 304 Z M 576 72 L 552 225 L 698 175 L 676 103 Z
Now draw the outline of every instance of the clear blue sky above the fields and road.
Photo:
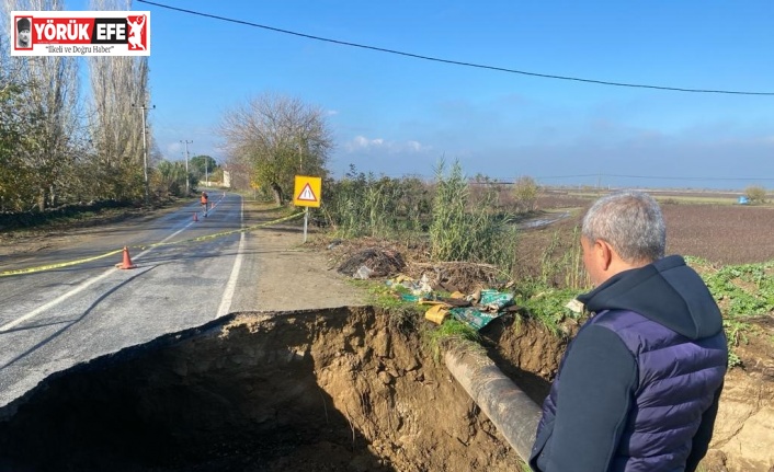
M 226 110 L 263 92 L 328 112 L 330 168 L 544 184 L 774 187 L 774 2 L 282 0 L 166 5 L 460 62 L 771 95 L 530 77 L 151 12 L 150 123 L 167 159 L 225 159 Z M 659 177 L 659 179 L 657 179 Z

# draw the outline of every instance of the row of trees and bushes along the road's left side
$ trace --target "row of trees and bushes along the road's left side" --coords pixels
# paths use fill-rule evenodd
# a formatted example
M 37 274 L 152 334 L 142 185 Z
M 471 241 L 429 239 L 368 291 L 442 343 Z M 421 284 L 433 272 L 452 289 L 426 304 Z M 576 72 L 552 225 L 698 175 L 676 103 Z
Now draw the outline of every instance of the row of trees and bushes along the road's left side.
M 130 10 L 130 1 L 89 7 Z M 148 203 L 180 195 L 186 179 L 195 187 L 197 174 L 160 158 L 147 119 L 147 57 L 11 57 L 14 10 L 66 8 L 59 0 L 15 0 L 0 11 L 0 211 Z

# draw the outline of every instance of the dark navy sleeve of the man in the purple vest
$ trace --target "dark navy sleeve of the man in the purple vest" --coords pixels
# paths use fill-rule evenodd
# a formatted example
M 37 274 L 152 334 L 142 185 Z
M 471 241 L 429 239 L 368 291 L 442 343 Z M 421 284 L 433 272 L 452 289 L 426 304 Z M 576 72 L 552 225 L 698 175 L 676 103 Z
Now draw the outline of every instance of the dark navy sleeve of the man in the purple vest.
M 544 472 L 605 472 L 626 427 L 637 364 L 621 338 L 602 326 L 578 334 L 559 372 L 556 416 Z

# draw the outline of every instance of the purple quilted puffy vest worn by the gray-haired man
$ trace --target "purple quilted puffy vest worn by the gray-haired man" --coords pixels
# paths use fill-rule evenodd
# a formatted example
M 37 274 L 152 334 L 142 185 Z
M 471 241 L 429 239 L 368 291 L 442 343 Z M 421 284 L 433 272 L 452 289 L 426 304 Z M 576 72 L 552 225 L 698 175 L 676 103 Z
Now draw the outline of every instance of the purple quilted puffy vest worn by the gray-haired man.
M 726 375 L 725 334 L 692 341 L 626 310 L 602 311 L 590 324 L 615 332 L 639 369 L 633 410 L 610 470 L 684 470 L 702 414 Z

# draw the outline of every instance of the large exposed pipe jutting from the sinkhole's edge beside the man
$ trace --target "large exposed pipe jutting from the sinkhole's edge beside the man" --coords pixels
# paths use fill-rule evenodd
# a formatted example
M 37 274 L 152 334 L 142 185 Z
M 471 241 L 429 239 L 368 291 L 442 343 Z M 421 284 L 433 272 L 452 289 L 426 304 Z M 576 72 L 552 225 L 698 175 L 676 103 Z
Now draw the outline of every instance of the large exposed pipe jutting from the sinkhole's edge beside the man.
M 483 354 L 452 349 L 444 361 L 516 453 L 528 461 L 540 407 Z

